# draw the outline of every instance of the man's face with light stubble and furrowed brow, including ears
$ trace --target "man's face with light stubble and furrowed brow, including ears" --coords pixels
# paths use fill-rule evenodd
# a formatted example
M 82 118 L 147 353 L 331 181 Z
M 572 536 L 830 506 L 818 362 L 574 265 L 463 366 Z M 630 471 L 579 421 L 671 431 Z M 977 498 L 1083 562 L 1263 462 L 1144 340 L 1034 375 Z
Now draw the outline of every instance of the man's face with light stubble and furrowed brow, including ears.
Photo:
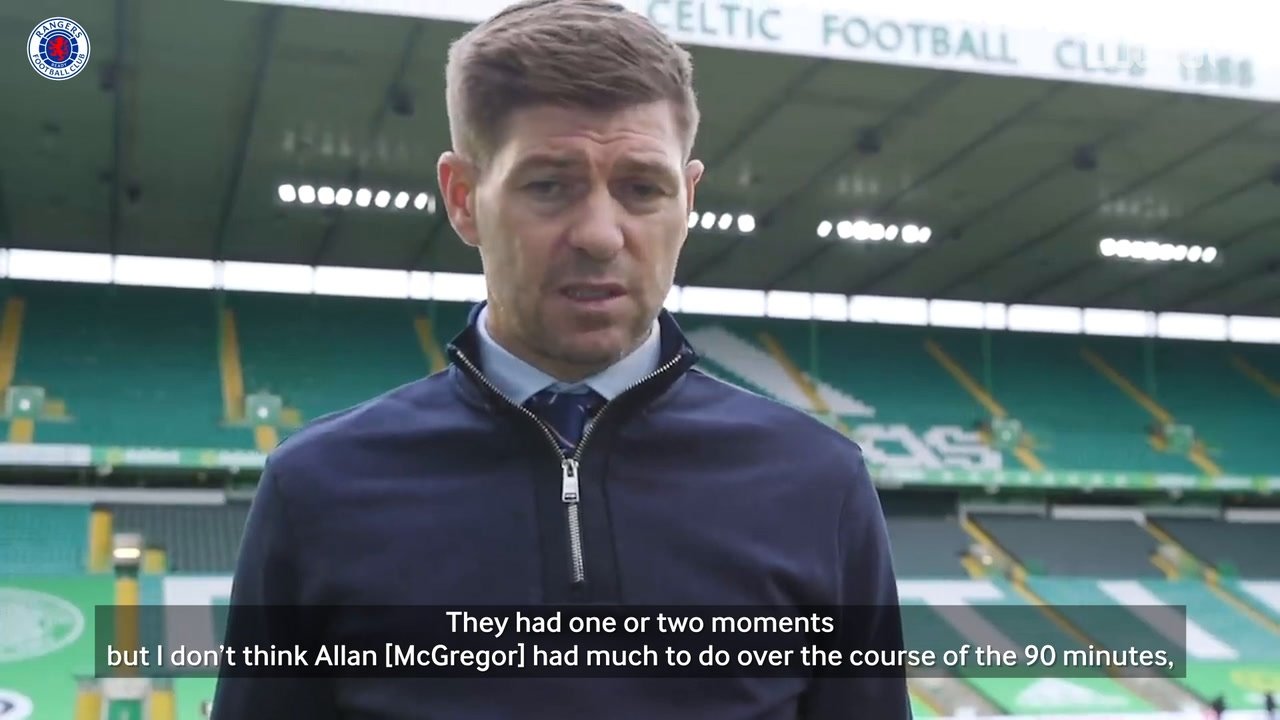
M 449 219 L 480 250 L 489 329 L 562 379 L 620 360 L 648 334 L 689 233 L 699 161 L 684 163 L 667 102 L 613 114 L 513 114 L 489 167 L 440 160 Z

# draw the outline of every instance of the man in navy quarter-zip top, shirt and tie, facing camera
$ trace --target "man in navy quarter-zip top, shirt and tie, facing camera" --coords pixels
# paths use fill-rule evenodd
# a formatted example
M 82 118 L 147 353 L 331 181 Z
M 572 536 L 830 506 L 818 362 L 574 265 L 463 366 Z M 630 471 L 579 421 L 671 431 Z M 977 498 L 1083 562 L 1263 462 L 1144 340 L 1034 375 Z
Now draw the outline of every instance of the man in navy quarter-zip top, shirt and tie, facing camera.
M 663 301 L 703 165 L 689 55 L 644 17 L 527 0 L 447 70 L 444 206 L 488 301 L 442 373 L 320 419 L 270 457 L 229 635 L 268 605 L 865 606 L 901 647 L 859 448 L 694 369 Z M 335 338 L 340 342 L 340 338 Z M 370 348 L 376 351 L 376 348 Z M 353 372 L 358 372 L 353 369 Z M 335 630 L 337 632 L 337 630 Z M 407 630 L 406 630 L 407 632 Z M 223 678 L 215 720 L 910 716 L 877 679 Z

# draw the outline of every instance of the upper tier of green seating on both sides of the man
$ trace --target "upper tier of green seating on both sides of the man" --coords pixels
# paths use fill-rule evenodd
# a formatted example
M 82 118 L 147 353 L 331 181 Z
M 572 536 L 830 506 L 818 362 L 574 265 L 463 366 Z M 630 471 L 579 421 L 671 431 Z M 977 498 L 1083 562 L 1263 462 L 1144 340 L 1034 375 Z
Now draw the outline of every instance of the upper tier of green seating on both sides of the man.
M 31 439 L 134 447 L 269 450 L 306 421 L 443 366 L 443 348 L 471 309 L 72 283 L 10 282 L 8 291 L 26 307 L 13 384 L 45 392 Z M 1143 342 L 1124 338 L 680 320 L 705 372 L 823 416 L 877 461 L 1207 475 L 1271 469 L 1265 430 L 1276 404 L 1233 368 L 1235 352 L 1221 343 L 1164 341 L 1144 363 Z M 1253 356 L 1263 365 L 1268 357 Z M 1064 384 L 1073 392 L 1061 393 Z M 262 423 L 244 416 L 246 398 L 260 392 L 282 409 L 255 443 L 251 428 Z M 1230 402 L 1215 404 L 1224 392 Z M 1189 423 L 1206 442 L 1162 450 L 1161 437 L 1148 434 L 1166 413 L 1157 400 L 1170 406 L 1166 419 Z M 1000 442 L 995 419 L 1019 421 L 1021 434 Z

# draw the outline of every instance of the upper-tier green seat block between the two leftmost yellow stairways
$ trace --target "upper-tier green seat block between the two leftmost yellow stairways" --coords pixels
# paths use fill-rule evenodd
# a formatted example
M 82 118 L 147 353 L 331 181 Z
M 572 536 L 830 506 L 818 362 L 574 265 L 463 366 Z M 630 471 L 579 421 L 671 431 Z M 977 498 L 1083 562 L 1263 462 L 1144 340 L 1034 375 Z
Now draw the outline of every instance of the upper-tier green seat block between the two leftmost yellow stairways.
M 37 419 L 36 442 L 248 443 L 248 433 L 221 427 L 207 291 L 10 282 L 9 297 L 26 305 L 14 384 L 58 401 Z

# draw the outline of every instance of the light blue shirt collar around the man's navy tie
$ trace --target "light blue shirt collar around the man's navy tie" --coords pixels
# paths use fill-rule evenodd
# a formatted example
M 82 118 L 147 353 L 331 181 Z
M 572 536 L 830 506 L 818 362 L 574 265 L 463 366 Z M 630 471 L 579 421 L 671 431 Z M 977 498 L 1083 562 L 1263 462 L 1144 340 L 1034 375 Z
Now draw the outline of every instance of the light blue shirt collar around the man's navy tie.
M 480 369 L 503 395 L 517 405 L 524 405 L 530 397 L 548 387 L 556 392 L 582 392 L 589 387 L 605 400 L 613 400 L 622 391 L 657 370 L 662 361 L 660 332 L 658 320 L 654 320 L 649 337 L 630 355 L 581 382 L 562 383 L 498 345 L 489 334 L 488 319 L 489 306 L 485 305 L 480 309 L 480 316 L 476 318 L 476 331 L 480 336 Z

